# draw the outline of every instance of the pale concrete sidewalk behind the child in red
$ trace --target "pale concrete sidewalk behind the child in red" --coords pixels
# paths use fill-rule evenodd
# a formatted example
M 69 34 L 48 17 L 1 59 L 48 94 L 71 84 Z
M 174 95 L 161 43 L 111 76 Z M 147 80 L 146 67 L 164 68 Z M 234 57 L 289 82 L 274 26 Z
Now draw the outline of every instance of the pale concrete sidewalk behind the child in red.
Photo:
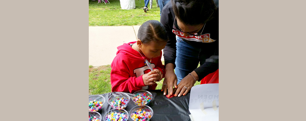
M 101 66 L 111 64 L 116 56 L 118 46 L 137 40 L 139 27 L 89 27 L 89 65 Z

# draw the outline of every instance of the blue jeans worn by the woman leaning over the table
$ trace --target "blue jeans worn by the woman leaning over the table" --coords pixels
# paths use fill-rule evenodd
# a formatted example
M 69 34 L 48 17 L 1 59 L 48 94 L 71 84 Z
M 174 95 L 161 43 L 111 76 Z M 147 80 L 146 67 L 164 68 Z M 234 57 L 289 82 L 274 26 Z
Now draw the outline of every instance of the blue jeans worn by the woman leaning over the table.
M 177 75 L 177 84 L 179 84 L 185 76 L 198 67 L 199 62 L 200 65 L 204 64 L 205 59 L 210 55 L 205 55 L 203 49 L 191 46 L 179 37 L 176 37 L 176 40 L 176 67 L 174 71 Z

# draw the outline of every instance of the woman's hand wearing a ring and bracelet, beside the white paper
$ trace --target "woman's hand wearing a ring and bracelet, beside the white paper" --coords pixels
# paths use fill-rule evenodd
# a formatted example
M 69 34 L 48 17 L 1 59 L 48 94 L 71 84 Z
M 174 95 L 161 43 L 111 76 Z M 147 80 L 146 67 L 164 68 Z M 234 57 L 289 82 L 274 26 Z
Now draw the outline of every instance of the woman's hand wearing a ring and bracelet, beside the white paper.
M 196 80 L 199 80 L 199 77 L 195 71 L 192 71 L 191 75 L 185 76 L 185 78 L 183 78 L 181 82 L 177 85 L 178 87 L 175 91 L 174 96 L 181 97 L 182 95 L 186 95 L 189 90 L 191 90 L 192 86 L 196 83 Z

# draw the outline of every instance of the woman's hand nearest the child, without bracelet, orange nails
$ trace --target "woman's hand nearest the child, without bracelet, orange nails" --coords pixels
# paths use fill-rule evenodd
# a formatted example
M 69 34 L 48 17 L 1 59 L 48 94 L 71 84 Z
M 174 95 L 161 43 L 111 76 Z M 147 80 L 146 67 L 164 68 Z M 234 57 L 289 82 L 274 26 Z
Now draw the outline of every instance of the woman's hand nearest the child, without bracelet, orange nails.
M 168 89 L 167 97 L 170 97 L 173 93 L 173 84 L 174 87 L 177 88 L 177 76 L 174 73 L 174 64 L 168 63 L 166 64 L 166 74 L 161 90 L 164 91 L 164 95 L 166 95 Z

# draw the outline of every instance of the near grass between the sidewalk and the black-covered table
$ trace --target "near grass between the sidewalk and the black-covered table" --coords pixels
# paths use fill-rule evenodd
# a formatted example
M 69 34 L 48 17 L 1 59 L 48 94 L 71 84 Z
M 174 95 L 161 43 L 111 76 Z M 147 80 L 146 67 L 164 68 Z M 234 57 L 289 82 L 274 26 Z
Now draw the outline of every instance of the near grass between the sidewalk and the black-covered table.
M 164 61 L 162 61 L 164 64 Z M 200 64 L 198 65 L 198 67 Z M 104 66 L 89 66 L 89 95 L 92 94 L 105 94 L 111 92 L 110 85 L 110 65 Z M 162 79 L 157 83 L 156 90 L 162 89 L 162 83 L 164 79 Z M 200 82 L 196 81 L 195 86 L 199 85 Z

